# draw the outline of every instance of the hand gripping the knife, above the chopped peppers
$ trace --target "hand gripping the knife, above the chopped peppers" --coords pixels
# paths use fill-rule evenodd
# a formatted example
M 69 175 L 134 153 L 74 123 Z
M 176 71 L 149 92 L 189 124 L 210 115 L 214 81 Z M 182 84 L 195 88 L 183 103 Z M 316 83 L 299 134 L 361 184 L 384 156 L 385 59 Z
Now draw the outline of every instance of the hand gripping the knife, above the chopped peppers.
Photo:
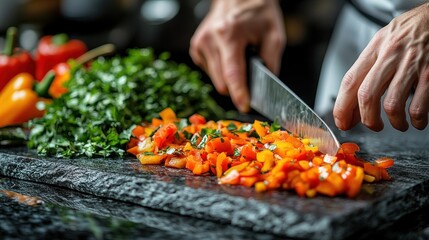
M 208 15 L 191 39 L 189 52 L 216 90 L 230 94 L 238 110 L 247 112 L 246 47 L 258 46 L 267 67 L 278 73 L 285 44 L 278 0 L 212 0 Z

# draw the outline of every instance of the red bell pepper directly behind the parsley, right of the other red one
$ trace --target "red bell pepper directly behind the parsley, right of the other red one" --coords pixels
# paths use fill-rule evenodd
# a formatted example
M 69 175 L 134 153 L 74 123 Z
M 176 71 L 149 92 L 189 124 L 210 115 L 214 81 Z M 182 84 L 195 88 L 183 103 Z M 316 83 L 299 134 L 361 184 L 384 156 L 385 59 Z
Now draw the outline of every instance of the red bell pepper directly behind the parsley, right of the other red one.
M 42 79 L 55 65 L 76 59 L 87 51 L 86 44 L 67 34 L 43 36 L 36 49 L 36 79 Z

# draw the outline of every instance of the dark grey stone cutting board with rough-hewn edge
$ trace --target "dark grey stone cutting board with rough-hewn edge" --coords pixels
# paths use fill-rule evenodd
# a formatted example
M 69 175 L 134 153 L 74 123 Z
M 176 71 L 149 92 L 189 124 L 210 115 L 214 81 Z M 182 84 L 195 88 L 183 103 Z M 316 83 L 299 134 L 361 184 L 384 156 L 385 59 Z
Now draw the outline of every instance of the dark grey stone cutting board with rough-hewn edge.
M 387 129 L 388 130 L 388 129 Z M 364 184 L 356 199 L 313 199 L 292 192 L 256 193 L 218 185 L 213 176 L 141 166 L 137 159 L 55 159 L 26 148 L 0 149 L 0 175 L 47 183 L 145 207 L 285 237 L 344 239 L 429 204 L 429 131 L 337 133 L 361 146 L 361 156 L 393 157 L 393 180 Z

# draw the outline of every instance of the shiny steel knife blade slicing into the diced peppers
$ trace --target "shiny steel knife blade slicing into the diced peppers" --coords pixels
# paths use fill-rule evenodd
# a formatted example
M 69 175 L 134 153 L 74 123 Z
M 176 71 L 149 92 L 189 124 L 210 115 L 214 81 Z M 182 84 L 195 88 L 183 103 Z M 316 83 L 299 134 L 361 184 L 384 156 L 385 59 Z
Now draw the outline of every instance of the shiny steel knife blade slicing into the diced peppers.
M 250 106 L 299 137 L 308 138 L 319 151 L 335 156 L 340 144 L 332 130 L 258 57 L 249 59 Z

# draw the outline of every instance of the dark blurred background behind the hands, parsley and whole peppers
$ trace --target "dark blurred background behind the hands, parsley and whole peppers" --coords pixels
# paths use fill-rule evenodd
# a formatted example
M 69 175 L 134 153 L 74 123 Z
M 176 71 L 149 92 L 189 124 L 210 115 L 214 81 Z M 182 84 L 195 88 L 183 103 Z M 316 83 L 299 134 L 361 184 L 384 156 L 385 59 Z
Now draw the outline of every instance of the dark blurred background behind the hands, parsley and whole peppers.
M 288 36 L 280 78 L 310 106 L 332 29 L 344 0 L 280 0 Z M 67 33 L 89 48 L 114 43 L 169 51 L 172 59 L 202 73 L 188 54 L 189 41 L 210 0 L 0 0 L 0 47 L 6 30 L 19 29 L 19 46 L 33 51 L 39 38 Z M 229 97 L 213 93 L 226 109 Z

